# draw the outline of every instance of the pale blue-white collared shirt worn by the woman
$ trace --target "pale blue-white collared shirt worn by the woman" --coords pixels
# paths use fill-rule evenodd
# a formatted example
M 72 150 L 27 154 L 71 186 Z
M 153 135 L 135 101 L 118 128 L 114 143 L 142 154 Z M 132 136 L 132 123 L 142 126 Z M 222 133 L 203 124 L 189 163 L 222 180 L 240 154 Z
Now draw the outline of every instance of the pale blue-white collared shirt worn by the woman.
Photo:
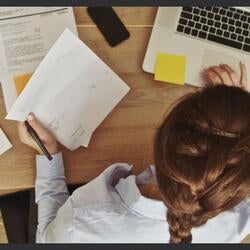
M 37 242 L 167 243 L 167 208 L 144 197 L 138 185 L 155 178 L 150 166 L 139 176 L 114 164 L 69 196 L 61 153 L 37 156 Z M 194 243 L 238 243 L 250 232 L 250 199 L 192 229 Z

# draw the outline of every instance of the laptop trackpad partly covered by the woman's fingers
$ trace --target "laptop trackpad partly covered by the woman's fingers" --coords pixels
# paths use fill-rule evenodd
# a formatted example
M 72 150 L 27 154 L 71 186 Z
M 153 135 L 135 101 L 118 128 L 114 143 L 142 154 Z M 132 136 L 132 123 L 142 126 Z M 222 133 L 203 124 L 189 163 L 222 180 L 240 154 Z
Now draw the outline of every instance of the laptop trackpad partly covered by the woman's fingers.
M 229 65 L 240 78 L 240 59 L 237 57 L 230 56 L 225 53 L 221 53 L 219 51 L 206 49 L 201 62 L 201 72 L 203 69 L 209 68 L 211 66 L 218 66 L 220 64 Z M 198 82 L 204 84 L 204 79 L 201 74 L 199 76 Z

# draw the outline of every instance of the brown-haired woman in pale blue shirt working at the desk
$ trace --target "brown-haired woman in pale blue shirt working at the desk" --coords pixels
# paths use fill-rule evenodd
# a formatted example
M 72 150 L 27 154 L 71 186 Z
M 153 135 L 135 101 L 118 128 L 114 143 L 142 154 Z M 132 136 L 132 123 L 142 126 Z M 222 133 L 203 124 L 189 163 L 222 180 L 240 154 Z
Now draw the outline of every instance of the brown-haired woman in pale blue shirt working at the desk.
M 37 242 L 240 242 L 250 233 L 250 94 L 240 68 L 240 80 L 227 65 L 205 70 L 210 86 L 172 108 L 155 167 L 134 176 L 114 164 L 72 196 L 55 138 L 30 115 L 53 154 L 36 157 Z M 19 135 L 41 154 L 23 123 Z

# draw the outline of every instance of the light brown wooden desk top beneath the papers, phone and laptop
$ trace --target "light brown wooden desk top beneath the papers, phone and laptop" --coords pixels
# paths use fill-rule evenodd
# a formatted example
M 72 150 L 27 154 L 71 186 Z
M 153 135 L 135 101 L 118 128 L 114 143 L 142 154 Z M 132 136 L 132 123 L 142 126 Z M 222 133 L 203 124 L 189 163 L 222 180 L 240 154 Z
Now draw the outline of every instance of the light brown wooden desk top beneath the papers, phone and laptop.
M 75 8 L 79 36 L 130 87 L 131 91 L 96 130 L 87 149 L 63 149 L 69 183 L 84 183 L 115 162 L 135 166 L 135 173 L 153 163 L 154 133 L 169 105 L 191 90 L 189 87 L 158 83 L 142 71 L 142 62 L 156 8 L 115 8 L 131 37 L 111 48 L 90 20 L 85 7 Z M 6 115 L 0 93 L 0 126 L 14 147 L 0 157 L 0 194 L 34 186 L 35 152 L 21 144 L 16 123 Z

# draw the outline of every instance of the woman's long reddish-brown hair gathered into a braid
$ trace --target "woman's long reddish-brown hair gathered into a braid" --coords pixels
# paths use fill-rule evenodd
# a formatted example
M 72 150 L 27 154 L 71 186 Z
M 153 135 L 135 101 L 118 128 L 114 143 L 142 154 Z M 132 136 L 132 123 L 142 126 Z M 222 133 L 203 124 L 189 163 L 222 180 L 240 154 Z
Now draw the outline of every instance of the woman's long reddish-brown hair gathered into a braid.
M 192 242 L 193 227 L 250 196 L 250 94 L 224 85 L 188 94 L 154 148 L 170 243 Z

